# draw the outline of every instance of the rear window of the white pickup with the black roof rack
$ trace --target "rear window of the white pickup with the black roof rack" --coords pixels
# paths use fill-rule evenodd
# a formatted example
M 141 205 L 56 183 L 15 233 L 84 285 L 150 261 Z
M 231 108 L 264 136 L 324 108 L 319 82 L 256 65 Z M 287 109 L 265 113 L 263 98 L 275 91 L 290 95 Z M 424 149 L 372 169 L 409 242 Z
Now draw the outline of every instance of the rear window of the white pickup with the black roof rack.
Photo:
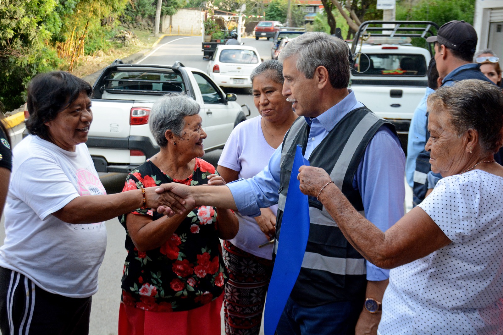
M 419 54 L 366 54 L 356 59 L 353 75 L 425 76 L 426 59 Z M 370 60 L 370 64 L 369 64 Z M 362 73 L 359 73 L 358 70 Z

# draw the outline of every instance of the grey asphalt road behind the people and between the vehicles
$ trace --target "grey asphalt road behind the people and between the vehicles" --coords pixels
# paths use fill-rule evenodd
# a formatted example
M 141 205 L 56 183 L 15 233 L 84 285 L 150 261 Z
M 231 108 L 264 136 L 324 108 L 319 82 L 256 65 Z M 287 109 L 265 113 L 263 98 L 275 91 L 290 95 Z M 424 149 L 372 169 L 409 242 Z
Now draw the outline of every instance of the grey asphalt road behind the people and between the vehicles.
M 242 42 L 244 42 L 245 45 L 256 47 L 264 60 L 270 59 L 272 42 L 267 40 L 256 41 L 250 38 L 243 38 Z M 151 54 L 147 55 L 145 59 L 139 62 L 170 65 L 179 60 L 186 66 L 206 70 L 207 62 L 202 59 L 202 56 L 200 36 L 167 36 L 162 39 Z M 237 102 L 239 104 L 247 104 L 250 107 L 250 117 L 258 115 L 249 90 L 226 89 L 225 91 L 226 93 L 235 93 L 238 97 Z M 16 131 L 19 130 L 16 128 Z M 19 140 L 20 136 L 17 136 L 15 142 Z M 221 150 L 212 151 L 207 153 L 204 159 L 216 165 L 220 153 Z M 109 173 L 100 175 L 100 179 L 108 194 L 117 193 L 122 190 L 126 174 Z M 411 192 L 408 186 L 406 186 L 406 192 L 406 203 L 411 203 Z M 121 276 L 124 260 L 126 258 L 126 250 L 124 249 L 126 234 L 124 228 L 119 224 L 117 219 L 107 221 L 106 226 L 108 234 L 107 251 L 99 272 L 99 290 L 98 293 L 93 296 L 89 332 L 91 335 L 117 334 Z M 4 238 L 4 218 L 2 218 L 2 220 L 0 220 L 0 245 L 3 244 Z M 93 246 L 90 245 L 89 247 L 92 248 Z M 224 334 L 223 325 L 222 334 Z M 262 331 L 261 334 L 263 334 Z

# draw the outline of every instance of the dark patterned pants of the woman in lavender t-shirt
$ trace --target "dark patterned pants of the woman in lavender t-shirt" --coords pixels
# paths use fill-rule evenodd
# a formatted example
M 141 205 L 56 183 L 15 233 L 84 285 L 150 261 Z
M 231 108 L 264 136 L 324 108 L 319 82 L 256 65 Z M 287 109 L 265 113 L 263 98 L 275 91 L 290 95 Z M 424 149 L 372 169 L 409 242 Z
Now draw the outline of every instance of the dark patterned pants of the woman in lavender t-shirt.
M 258 335 L 273 271 L 272 261 L 249 254 L 229 241 L 224 241 L 223 246 L 229 274 L 223 302 L 225 333 Z

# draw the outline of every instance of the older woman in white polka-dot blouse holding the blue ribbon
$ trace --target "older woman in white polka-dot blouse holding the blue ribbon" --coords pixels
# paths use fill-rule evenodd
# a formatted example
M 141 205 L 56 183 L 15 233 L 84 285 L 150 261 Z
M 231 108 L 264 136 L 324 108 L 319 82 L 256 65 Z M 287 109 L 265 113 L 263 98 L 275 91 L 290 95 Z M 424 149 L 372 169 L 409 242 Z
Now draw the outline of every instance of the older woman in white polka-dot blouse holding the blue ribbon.
M 501 111 L 503 93 L 482 80 L 430 95 L 426 149 L 443 179 L 385 232 L 324 171 L 299 170 L 301 191 L 318 197 L 348 241 L 393 269 L 378 334 L 503 334 L 503 167 L 493 158 L 503 144 Z M 379 313 L 381 303 L 368 298 L 367 311 Z

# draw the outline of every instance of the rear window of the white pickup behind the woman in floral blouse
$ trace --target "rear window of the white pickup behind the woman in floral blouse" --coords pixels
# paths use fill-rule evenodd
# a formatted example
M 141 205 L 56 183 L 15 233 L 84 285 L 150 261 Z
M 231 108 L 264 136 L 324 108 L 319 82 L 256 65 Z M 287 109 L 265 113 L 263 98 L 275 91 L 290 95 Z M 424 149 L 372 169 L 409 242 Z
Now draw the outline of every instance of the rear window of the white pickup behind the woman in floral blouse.
M 166 92 L 183 92 L 185 84 L 177 73 L 146 71 L 115 71 L 105 79 L 104 90 L 110 93 L 164 94 Z

